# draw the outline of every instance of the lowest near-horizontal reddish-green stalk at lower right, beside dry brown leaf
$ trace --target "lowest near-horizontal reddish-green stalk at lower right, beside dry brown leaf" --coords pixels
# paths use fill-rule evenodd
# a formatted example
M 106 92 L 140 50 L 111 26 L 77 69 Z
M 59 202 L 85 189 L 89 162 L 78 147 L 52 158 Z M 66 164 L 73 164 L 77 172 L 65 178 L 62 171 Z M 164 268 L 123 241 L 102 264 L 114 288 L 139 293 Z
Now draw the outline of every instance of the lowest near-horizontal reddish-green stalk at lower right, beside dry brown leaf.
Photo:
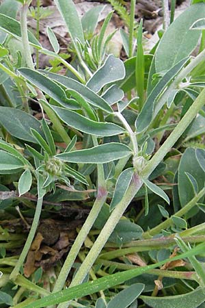
M 119 270 L 132 270 L 133 268 L 139 268 L 139 266 L 135 266 L 133 264 L 123 264 L 119 262 L 114 261 L 108 261 L 104 259 L 98 259 L 96 260 L 96 264 L 102 264 L 104 266 L 116 266 Z M 147 274 L 152 274 L 156 276 L 161 277 L 170 277 L 170 278 L 176 278 L 176 279 L 190 279 L 197 281 L 197 275 L 195 272 L 180 272 L 176 270 L 148 270 Z

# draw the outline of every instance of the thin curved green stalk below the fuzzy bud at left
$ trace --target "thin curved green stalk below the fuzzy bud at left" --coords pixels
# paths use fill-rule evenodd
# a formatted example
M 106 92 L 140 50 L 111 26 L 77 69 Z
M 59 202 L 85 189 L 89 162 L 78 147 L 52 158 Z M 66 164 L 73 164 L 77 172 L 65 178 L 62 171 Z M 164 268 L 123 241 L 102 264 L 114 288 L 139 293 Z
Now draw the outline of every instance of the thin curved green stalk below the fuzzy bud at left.
M 43 198 L 38 198 L 38 202 L 36 205 L 36 212 L 33 217 L 33 222 L 31 225 L 31 230 L 29 231 L 29 235 L 27 237 L 27 241 L 25 242 L 25 246 L 23 247 L 23 251 L 20 254 L 20 257 L 17 261 L 16 266 L 14 267 L 14 270 L 12 270 L 12 273 L 10 274 L 10 279 L 13 281 L 15 281 L 16 277 L 18 276 L 20 267 L 23 266 L 23 262 L 25 261 L 25 258 L 27 257 L 27 253 L 29 252 L 29 248 L 31 246 L 34 235 L 36 233 L 36 229 L 38 227 L 38 221 L 39 221 L 40 213 L 42 209 L 42 201 L 43 201 Z

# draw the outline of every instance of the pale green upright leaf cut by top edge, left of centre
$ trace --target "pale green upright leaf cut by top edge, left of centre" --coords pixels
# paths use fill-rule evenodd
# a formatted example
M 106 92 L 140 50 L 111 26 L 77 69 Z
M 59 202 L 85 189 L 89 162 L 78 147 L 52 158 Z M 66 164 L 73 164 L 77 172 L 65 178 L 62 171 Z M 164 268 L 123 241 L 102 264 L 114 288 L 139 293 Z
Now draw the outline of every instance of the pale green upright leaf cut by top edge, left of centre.
M 66 26 L 68 28 L 68 34 L 72 40 L 74 47 L 77 47 L 77 39 L 81 44 L 85 44 L 83 36 L 83 27 L 81 25 L 81 20 L 77 13 L 77 9 L 72 0 L 55 0 L 57 9 L 59 10 L 61 16 L 63 17 Z

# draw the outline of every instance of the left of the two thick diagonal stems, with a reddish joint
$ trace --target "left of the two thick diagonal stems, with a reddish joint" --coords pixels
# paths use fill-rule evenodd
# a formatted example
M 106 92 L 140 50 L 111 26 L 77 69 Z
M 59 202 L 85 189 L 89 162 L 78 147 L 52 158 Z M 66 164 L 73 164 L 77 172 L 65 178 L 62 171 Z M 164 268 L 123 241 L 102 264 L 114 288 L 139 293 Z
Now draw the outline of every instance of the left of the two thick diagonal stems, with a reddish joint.
M 93 142 L 94 146 L 98 145 L 97 138 L 94 136 L 93 136 Z M 83 245 L 83 242 L 87 238 L 90 229 L 92 228 L 96 218 L 98 217 L 100 209 L 102 209 L 102 205 L 106 201 L 107 190 L 106 190 L 104 169 L 102 164 L 97 164 L 97 170 L 98 170 L 98 194 L 96 201 L 94 202 L 94 205 L 92 206 L 89 216 L 85 220 L 85 223 L 81 228 L 81 231 L 79 231 L 79 234 L 77 235 L 77 238 L 75 239 L 74 244 L 72 245 L 70 252 L 68 253 L 68 257 L 66 258 L 64 266 L 61 268 L 53 292 L 60 291 L 64 287 L 64 283 L 70 272 L 70 269 L 72 268 L 72 264 L 74 263 L 74 260 L 76 259 L 81 249 L 81 246 Z M 59 305 L 59 307 L 61 307 L 61 305 Z

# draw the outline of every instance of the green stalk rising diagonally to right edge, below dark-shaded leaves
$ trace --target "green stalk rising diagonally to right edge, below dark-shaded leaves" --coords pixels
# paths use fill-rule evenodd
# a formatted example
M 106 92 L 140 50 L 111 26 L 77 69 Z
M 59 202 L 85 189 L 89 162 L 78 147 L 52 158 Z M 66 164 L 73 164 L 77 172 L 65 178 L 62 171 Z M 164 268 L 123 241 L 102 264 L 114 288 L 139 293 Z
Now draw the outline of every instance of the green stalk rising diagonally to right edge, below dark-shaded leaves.
M 187 203 L 187 205 L 185 205 L 184 207 L 182 207 L 182 209 L 177 211 L 176 214 L 174 214 L 174 216 L 182 217 L 184 214 L 186 214 L 188 211 L 190 211 L 190 209 L 192 209 L 196 205 L 197 201 L 199 201 L 200 198 L 202 198 L 204 196 L 204 194 L 205 194 L 205 188 L 202 188 L 202 190 L 200 190 L 200 192 L 198 194 L 196 194 L 191 199 L 191 201 L 189 201 L 189 203 Z M 172 224 L 173 224 L 172 217 L 167 218 L 167 220 L 161 222 L 161 224 L 159 224 L 158 226 L 156 226 L 156 227 L 152 228 L 151 230 L 143 233 L 143 238 L 150 238 L 151 236 L 154 236 L 154 235 L 160 233 L 161 230 L 167 229 L 168 227 L 172 226 Z

